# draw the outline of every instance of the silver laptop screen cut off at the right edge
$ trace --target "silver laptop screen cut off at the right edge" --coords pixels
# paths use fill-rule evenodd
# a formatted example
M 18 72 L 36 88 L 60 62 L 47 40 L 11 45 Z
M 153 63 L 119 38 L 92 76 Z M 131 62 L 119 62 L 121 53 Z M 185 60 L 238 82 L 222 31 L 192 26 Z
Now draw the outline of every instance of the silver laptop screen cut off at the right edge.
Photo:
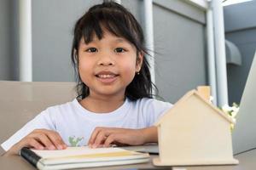
M 232 132 L 234 154 L 256 147 L 256 53 L 241 96 L 240 110 Z

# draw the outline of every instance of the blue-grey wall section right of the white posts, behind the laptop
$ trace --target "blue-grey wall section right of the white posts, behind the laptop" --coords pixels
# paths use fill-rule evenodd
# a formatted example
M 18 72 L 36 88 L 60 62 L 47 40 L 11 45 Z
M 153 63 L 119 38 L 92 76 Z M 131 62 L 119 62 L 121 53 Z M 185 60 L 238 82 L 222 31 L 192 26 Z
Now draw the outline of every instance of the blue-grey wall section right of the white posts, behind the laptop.
M 241 65 L 227 65 L 230 105 L 240 103 L 256 50 L 256 1 L 224 7 L 225 38 L 241 52 Z

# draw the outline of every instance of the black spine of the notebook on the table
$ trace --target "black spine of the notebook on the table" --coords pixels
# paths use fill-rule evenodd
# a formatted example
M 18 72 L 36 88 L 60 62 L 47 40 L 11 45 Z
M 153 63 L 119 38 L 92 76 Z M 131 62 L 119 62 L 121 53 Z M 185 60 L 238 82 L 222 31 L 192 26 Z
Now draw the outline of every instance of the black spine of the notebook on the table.
M 35 152 L 30 150 L 27 147 L 23 147 L 20 150 L 20 156 L 26 159 L 26 161 L 30 162 L 32 166 L 37 167 L 38 161 L 41 159 L 40 156 L 38 156 Z

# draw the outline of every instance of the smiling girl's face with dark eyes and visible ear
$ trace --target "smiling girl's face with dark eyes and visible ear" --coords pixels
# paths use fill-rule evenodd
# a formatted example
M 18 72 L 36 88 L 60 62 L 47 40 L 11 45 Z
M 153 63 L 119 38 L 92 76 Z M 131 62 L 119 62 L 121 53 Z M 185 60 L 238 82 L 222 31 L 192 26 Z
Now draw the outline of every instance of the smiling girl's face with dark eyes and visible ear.
M 90 96 L 124 98 L 125 88 L 140 71 L 143 54 L 125 38 L 116 37 L 103 30 L 103 37 L 96 36 L 86 44 L 79 44 L 79 74 L 90 88 Z

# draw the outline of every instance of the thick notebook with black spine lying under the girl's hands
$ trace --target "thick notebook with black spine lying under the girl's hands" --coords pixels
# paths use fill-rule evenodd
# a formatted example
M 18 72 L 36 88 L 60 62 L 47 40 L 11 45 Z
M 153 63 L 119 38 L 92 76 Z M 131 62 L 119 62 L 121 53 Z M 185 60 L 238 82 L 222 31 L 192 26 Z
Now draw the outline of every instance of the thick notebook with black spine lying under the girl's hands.
M 121 148 L 67 147 L 66 150 L 32 150 L 22 148 L 24 157 L 38 169 L 70 169 L 78 167 L 103 167 L 143 163 L 149 161 L 148 153 Z

